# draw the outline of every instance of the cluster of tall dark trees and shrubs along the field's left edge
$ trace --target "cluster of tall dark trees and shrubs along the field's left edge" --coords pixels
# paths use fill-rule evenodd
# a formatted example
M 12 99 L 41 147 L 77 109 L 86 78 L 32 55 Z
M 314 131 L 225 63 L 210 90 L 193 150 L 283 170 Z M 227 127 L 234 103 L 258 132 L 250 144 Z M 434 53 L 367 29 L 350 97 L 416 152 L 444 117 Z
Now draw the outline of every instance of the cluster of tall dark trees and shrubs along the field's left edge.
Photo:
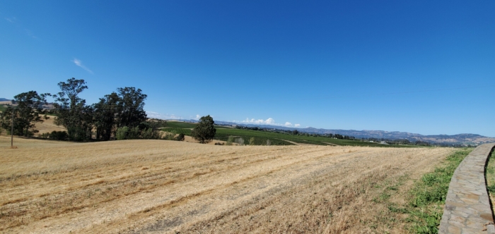
M 158 128 L 165 126 L 166 122 L 147 118 L 144 111 L 147 95 L 141 89 L 117 88 L 116 92 L 100 98 L 98 103 L 88 105 L 85 99 L 79 97 L 81 92 L 88 89 L 84 80 L 71 78 L 66 82 L 59 82 L 58 86 L 60 91 L 53 95 L 38 94 L 36 91 L 17 94 L 13 98 L 13 105 L 2 111 L 1 128 L 7 130 L 8 134 L 13 127 L 13 135 L 32 136 L 37 133 L 35 124 L 50 118 L 47 114 L 52 114 L 56 116 L 54 123 L 66 128 L 66 134 L 54 134 L 66 138 L 58 140 L 115 140 L 117 136 L 120 139 L 161 137 Z M 46 108 L 47 97 L 54 99 L 53 109 Z

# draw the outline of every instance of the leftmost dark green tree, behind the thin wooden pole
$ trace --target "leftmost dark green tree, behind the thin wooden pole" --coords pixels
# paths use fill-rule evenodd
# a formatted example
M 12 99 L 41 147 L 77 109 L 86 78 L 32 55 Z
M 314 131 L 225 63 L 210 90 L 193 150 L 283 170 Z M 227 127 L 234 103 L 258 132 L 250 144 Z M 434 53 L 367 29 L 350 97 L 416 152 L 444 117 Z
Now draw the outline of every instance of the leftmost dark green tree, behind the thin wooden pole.
M 50 94 L 38 94 L 36 91 L 23 92 L 13 97 L 13 104 L 2 113 L 1 127 L 11 131 L 13 116 L 13 135 L 28 137 L 36 133 L 35 123 L 43 122 L 41 116 L 45 114 L 43 105 L 47 104 L 46 97 Z

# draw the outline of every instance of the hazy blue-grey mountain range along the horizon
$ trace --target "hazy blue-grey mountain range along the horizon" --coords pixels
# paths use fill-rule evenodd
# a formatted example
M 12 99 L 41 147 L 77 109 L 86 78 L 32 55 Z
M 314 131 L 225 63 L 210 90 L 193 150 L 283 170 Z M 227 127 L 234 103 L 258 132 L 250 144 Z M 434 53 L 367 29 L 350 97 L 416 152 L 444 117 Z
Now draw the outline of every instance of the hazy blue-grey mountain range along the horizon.
M 195 120 L 188 120 L 189 122 L 197 123 Z M 495 142 L 494 137 L 485 137 L 478 134 L 463 133 L 458 135 L 421 135 L 418 133 L 406 133 L 406 132 L 388 132 L 382 130 L 341 130 L 341 129 L 323 129 L 323 128 L 289 128 L 277 125 L 256 125 L 245 123 L 233 123 L 226 121 L 215 121 L 219 125 L 242 125 L 247 127 L 260 127 L 279 130 L 298 130 L 302 133 L 317 133 L 317 134 L 340 134 L 347 135 L 356 138 L 377 138 L 377 139 L 407 139 L 412 142 L 424 141 L 431 143 L 445 143 L 445 144 L 483 144 L 489 142 Z

